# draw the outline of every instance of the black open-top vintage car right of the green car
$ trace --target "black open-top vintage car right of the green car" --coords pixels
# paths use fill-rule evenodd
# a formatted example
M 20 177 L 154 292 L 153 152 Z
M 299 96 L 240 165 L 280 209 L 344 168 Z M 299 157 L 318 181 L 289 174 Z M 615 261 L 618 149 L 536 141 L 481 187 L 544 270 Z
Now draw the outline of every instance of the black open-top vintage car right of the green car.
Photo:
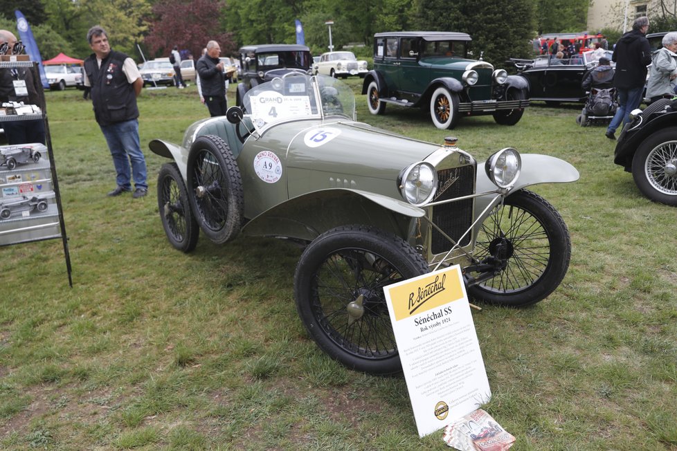
M 611 50 L 604 57 L 611 61 Z M 581 87 L 587 71 L 597 66 L 599 55 L 593 51 L 557 59 L 543 55 L 536 59 L 511 59 L 518 73 L 529 80 L 530 100 L 545 100 L 548 104 L 559 102 L 585 102 L 588 95 Z

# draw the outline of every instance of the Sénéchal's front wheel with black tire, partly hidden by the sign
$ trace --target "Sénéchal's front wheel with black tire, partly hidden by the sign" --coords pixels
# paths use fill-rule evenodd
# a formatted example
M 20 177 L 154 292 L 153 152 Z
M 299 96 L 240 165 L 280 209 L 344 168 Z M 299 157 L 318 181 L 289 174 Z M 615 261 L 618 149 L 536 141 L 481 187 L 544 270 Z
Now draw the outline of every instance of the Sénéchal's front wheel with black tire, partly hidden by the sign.
M 383 286 L 427 272 L 424 258 L 393 234 L 367 226 L 334 228 L 312 241 L 298 261 L 296 309 L 318 346 L 346 367 L 399 373 Z M 347 308 L 359 295 L 362 313 L 355 318 Z

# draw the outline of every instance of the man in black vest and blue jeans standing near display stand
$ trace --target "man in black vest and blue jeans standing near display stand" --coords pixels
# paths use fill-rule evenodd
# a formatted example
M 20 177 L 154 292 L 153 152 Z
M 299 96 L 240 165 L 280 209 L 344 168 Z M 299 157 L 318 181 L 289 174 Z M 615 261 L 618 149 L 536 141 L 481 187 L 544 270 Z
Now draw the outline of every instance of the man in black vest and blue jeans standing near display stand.
M 148 185 L 146 162 L 138 138 L 136 107 L 136 97 L 143 88 L 141 73 L 132 58 L 111 49 L 108 35 L 100 26 L 89 29 L 87 41 L 94 53 L 84 60 L 84 86 L 91 86 L 94 117 L 108 142 L 118 174 L 118 185 L 108 195 L 132 191 L 133 175 L 134 198 L 143 197 L 148 192 Z

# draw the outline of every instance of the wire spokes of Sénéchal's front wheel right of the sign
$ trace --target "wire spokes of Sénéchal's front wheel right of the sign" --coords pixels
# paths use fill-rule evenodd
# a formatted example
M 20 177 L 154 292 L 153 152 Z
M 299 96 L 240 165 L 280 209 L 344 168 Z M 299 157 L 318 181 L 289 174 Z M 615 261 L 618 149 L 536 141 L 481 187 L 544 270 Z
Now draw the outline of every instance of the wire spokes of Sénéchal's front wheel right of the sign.
M 497 250 L 503 250 L 503 255 Z M 545 273 L 550 261 L 550 240 L 543 224 L 527 210 L 505 205 L 498 207 L 480 228 L 476 257 L 507 258 L 506 266 L 482 288 L 512 293 L 528 288 Z

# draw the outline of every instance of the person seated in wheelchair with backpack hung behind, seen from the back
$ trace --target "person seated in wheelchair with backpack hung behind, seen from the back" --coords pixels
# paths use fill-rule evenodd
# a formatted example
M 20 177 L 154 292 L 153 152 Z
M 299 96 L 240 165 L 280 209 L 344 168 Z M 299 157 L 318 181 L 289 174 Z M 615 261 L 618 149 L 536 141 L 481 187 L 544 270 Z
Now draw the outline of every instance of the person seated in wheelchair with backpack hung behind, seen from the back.
M 588 71 L 581 84 L 588 95 L 583 111 L 576 118 L 581 127 L 593 124 L 608 124 L 618 108 L 616 89 L 613 87 L 613 68 L 605 57 L 599 58 L 599 66 Z

